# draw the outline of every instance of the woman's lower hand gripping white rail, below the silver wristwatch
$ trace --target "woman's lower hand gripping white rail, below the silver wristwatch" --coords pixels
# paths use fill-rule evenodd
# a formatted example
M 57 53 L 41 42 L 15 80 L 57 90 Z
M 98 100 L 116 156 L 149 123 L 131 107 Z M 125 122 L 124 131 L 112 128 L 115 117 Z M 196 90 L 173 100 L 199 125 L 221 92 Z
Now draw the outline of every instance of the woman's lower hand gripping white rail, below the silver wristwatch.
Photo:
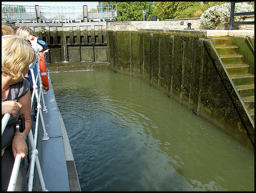
M 26 158 L 28 146 L 23 136 L 15 135 L 12 141 L 13 157 L 18 153 L 22 159 Z

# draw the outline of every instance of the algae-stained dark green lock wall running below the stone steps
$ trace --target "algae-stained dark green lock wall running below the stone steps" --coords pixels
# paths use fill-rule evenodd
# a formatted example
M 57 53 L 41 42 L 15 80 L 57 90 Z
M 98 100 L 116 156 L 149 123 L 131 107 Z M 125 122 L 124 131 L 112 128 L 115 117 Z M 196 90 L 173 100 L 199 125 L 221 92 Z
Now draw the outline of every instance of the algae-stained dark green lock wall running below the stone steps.
M 110 68 L 144 79 L 253 148 L 254 128 L 246 130 L 230 89 L 204 45 L 205 37 L 200 31 L 108 31 Z

